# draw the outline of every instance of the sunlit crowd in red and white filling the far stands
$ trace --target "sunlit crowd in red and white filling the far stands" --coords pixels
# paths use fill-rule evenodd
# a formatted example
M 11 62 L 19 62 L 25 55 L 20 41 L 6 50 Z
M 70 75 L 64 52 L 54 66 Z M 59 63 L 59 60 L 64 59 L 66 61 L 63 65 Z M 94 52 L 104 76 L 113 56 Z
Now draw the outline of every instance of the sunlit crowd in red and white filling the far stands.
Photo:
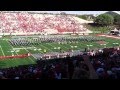
M 4 33 L 44 32 L 55 29 L 58 32 L 86 31 L 74 16 L 31 14 L 27 12 L 0 12 L 0 30 Z

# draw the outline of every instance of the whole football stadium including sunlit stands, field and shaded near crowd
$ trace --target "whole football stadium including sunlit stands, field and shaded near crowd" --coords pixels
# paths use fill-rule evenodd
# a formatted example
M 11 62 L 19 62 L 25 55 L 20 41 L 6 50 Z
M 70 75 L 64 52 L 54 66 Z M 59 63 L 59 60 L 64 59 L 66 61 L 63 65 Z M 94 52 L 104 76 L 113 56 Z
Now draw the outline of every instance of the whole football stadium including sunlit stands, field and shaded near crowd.
M 1 11 L 0 78 L 98 79 L 102 77 L 98 71 L 103 72 L 104 59 L 108 59 L 108 53 L 110 60 L 115 56 L 117 63 L 114 61 L 114 69 L 119 69 L 119 36 L 93 34 L 93 31 L 86 27 L 88 23 L 93 21 L 65 13 Z M 111 62 L 113 63 L 112 60 Z M 86 71 L 81 70 L 79 76 L 74 75 L 75 66 L 71 63 Z M 98 66 L 94 64 L 101 67 L 95 68 Z M 106 70 L 110 75 L 108 78 L 115 72 L 109 70 L 110 67 L 112 66 Z M 65 73 L 66 68 L 68 75 Z M 46 76 L 46 73 L 50 75 Z

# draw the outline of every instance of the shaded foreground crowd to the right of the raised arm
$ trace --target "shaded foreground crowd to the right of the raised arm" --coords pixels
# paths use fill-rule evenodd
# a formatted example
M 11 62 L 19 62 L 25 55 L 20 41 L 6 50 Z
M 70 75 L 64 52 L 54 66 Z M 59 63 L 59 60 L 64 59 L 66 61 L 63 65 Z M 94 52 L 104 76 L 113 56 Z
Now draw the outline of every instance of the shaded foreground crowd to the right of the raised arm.
M 120 79 L 120 50 L 105 48 L 90 56 L 91 63 L 100 79 Z

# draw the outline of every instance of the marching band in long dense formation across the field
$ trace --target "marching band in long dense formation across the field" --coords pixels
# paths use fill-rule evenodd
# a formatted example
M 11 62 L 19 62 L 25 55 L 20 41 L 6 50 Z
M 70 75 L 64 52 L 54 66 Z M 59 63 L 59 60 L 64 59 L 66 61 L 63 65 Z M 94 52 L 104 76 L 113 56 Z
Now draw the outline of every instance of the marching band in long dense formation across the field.
M 13 38 L 9 40 L 12 46 L 30 46 L 30 45 L 39 45 L 41 43 L 58 43 L 58 44 L 71 44 L 78 43 L 79 41 L 94 42 L 101 41 L 102 38 L 92 37 L 92 36 L 40 36 L 37 38 Z

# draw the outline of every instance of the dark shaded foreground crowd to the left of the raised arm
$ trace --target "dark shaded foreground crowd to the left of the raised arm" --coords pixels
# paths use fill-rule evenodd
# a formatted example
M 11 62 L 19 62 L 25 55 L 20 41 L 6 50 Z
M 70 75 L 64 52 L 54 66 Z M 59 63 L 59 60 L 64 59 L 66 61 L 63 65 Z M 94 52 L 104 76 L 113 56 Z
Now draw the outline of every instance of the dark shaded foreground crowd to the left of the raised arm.
M 89 68 L 81 56 L 38 60 L 36 65 L 0 70 L 1 79 L 89 79 Z

